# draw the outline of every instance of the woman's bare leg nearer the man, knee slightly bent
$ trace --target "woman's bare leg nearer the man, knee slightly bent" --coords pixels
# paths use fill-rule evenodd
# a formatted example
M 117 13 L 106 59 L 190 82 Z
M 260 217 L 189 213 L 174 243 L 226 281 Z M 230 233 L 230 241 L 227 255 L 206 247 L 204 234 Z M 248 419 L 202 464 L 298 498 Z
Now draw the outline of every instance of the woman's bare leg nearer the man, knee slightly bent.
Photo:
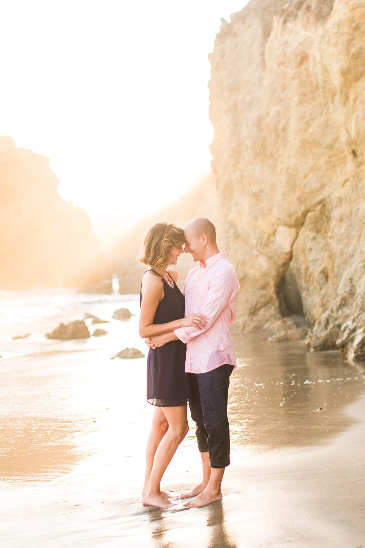
M 187 406 L 162 407 L 161 408 L 169 423 L 169 429 L 161 439 L 153 459 L 152 470 L 146 490 L 142 495 L 143 504 L 167 508 L 170 501 L 160 492 L 160 482 L 170 460 L 173 457 L 179 443 L 187 435 L 189 426 L 187 418 Z

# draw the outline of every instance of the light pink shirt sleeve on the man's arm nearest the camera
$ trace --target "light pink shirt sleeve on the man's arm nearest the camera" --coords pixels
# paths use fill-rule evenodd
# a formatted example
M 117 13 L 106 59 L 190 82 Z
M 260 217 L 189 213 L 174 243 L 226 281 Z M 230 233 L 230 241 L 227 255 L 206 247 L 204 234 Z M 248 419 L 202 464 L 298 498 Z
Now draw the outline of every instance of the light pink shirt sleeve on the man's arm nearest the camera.
M 212 327 L 216 319 L 221 316 L 223 310 L 233 298 L 234 294 L 235 281 L 233 275 L 228 270 L 217 271 L 210 283 L 201 310 L 196 311 L 196 313 L 201 313 L 207 316 L 207 327 L 202 330 L 193 326 L 179 327 L 174 330 L 177 338 L 186 344 L 189 340 L 205 333 Z

